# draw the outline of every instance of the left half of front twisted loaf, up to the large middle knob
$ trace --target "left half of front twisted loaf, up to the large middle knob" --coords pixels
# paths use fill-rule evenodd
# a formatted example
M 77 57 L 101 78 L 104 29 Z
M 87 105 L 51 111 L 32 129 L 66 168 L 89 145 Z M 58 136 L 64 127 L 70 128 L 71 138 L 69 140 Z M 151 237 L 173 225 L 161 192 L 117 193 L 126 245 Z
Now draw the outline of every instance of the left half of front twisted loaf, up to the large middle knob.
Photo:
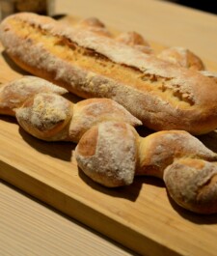
M 86 130 L 107 120 L 142 125 L 114 100 L 72 103 L 58 95 L 66 92 L 41 78 L 23 77 L 0 89 L 0 113 L 14 115 L 27 132 L 47 141 L 78 142 Z

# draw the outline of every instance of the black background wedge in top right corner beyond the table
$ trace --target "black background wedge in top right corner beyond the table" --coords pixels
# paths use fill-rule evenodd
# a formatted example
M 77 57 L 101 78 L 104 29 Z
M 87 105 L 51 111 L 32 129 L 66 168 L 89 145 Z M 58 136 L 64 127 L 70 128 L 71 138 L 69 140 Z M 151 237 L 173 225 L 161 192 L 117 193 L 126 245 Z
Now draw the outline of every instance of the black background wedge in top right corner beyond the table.
M 173 2 L 178 5 L 187 6 L 194 8 L 206 13 L 217 14 L 217 0 L 166 0 L 168 2 Z

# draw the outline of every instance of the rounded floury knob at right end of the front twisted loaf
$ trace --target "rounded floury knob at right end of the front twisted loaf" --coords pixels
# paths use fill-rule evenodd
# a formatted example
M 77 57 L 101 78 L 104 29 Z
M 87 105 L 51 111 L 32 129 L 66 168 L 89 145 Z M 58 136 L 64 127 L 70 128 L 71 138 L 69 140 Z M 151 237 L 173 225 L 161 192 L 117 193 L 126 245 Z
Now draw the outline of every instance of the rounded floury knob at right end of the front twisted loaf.
M 176 160 L 164 172 L 169 194 L 194 213 L 217 213 L 217 163 L 202 159 Z

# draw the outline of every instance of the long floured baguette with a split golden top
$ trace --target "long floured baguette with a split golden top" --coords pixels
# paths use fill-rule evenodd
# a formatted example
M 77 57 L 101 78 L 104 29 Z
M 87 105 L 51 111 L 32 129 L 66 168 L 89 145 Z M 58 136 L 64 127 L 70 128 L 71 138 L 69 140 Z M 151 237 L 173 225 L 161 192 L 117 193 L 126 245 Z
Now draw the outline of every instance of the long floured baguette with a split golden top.
M 38 14 L 14 14 L 0 25 L 18 66 L 75 95 L 116 100 L 154 130 L 217 128 L 212 79 L 99 34 Z

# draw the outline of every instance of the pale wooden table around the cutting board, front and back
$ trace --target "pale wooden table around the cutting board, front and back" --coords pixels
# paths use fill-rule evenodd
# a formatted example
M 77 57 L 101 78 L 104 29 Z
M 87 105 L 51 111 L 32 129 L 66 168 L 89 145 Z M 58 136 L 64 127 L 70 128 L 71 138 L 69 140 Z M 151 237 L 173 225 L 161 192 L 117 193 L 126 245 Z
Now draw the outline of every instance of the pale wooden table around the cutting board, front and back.
M 58 0 L 56 14 L 97 16 L 150 42 L 181 45 L 216 71 L 217 16 L 154 0 Z M 157 44 L 159 43 L 159 45 Z M 0 153 L 1 154 L 1 153 Z M 149 251 L 144 252 L 149 255 Z M 0 255 L 134 255 L 6 183 L 0 184 Z

